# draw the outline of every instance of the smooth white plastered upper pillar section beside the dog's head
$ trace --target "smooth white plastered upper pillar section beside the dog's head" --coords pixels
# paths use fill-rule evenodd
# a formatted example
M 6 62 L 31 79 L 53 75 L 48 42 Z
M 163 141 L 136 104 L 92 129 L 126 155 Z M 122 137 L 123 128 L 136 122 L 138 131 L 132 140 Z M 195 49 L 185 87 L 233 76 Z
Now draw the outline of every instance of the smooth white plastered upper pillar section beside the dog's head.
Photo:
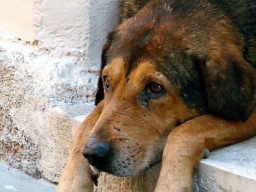
M 116 0 L 34 0 L 35 34 L 59 54 L 84 57 L 84 66 L 99 69 L 100 50 L 116 25 Z

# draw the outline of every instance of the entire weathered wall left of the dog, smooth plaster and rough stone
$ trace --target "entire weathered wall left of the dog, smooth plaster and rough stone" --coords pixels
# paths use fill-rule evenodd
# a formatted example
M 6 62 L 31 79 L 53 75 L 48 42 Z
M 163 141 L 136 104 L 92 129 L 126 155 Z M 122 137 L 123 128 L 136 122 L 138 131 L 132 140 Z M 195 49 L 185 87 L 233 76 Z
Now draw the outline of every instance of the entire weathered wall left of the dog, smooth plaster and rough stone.
M 0 160 L 58 182 L 119 1 L 13 2 L 0 0 Z

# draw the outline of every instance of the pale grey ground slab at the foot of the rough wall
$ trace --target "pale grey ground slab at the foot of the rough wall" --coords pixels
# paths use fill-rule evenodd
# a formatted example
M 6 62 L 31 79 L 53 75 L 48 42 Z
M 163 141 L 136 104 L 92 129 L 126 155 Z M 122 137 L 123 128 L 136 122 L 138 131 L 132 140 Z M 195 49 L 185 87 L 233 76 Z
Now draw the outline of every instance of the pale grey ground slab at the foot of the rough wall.
M 1 192 L 54 192 L 56 186 L 43 179 L 36 180 L 21 171 L 0 163 Z

